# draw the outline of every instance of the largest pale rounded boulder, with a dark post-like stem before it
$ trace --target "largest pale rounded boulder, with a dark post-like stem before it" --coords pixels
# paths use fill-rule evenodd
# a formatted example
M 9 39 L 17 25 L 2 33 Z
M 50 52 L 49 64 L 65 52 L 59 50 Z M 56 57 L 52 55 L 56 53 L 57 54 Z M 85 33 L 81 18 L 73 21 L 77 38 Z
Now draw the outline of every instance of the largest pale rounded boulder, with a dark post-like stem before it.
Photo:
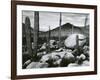
M 70 35 L 67 39 L 65 39 L 65 46 L 67 48 L 75 48 L 75 46 L 77 45 L 76 43 L 76 37 L 78 36 L 79 38 L 79 46 L 83 46 L 84 43 L 86 43 L 86 36 L 83 34 L 72 34 Z

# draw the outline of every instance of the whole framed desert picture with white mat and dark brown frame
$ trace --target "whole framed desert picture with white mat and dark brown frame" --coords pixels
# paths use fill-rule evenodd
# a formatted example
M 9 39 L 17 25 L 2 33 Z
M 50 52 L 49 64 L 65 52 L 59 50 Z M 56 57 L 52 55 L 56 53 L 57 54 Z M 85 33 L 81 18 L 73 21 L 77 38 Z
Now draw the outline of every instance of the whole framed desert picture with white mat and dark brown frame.
M 96 74 L 96 6 L 23 1 L 13 6 L 13 78 Z

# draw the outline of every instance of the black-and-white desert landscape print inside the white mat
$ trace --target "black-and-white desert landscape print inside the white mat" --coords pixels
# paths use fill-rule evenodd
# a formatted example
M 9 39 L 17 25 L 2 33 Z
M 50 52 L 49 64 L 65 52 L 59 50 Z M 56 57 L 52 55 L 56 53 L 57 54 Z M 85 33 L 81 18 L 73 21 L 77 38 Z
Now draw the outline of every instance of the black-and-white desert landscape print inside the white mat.
M 90 66 L 89 13 L 22 10 L 22 69 Z

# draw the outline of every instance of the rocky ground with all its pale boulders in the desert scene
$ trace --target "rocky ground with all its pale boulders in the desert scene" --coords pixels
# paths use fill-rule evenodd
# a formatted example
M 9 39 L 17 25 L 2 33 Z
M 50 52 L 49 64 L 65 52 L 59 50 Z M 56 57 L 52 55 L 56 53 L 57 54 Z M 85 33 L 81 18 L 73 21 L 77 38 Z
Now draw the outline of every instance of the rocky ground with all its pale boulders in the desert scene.
M 76 36 L 79 38 L 78 47 L 76 47 Z M 26 69 L 89 66 L 89 45 L 86 43 L 86 37 L 82 34 L 70 35 L 64 40 L 64 46 L 60 48 L 57 46 L 57 41 L 50 40 L 50 52 L 46 52 L 47 44 L 43 43 L 37 53 L 39 60 L 29 59 L 23 66 Z

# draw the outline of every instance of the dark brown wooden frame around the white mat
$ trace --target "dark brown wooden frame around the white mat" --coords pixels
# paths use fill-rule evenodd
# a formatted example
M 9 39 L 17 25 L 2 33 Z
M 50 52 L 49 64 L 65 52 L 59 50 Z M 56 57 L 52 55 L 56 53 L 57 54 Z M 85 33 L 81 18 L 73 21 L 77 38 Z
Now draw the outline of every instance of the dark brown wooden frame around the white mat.
M 17 5 L 93 9 L 94 10 L 94 71 L 17 75 L 17 15 L 16 15 Z M 33 1 L 11 1 L 11 79 L 12 80 L 29 79 L 29 78 L 90 75 L 90 74 L 91 75 L 97 74 L 97 6 L 96 5 L 64 4 L 64 3 L 33 2 Z

